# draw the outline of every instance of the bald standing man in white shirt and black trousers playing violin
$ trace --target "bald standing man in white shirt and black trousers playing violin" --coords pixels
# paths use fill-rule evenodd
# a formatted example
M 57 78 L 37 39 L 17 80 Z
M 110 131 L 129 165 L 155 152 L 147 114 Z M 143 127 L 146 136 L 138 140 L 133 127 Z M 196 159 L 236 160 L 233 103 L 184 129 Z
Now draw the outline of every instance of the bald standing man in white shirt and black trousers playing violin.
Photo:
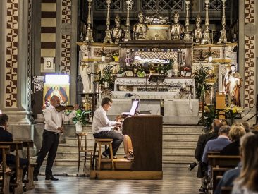
M 37 166 L 35 166 L 34 169 L 34 181 L 39 181 L 37 175 L 39 174 L 39 169 L 42 166 L 42 163 L 47 153 L 48 157 L 45 171 L 46 180 L 59 180 L 57 178 L 54 178 L 52 174 L 52 166 L 54 163 L 54 159 L 56 158 L 57 147 L 59 146 L 59 133 L 63 133 L 63 121 L 69 121 L 70 119 L 72 119 L 75 116 L 75 110 L 78 109 L 78 104 L 76 104 L 73 112 L 66 116 L 63 111 L 56 111 L 56 107 L 58 107 L 59 104 L 59 97 L 54 95 L 51 97 L 50 106 L 43 110 L 45 126 L 43 132 L 42 147 L 36 160 Z

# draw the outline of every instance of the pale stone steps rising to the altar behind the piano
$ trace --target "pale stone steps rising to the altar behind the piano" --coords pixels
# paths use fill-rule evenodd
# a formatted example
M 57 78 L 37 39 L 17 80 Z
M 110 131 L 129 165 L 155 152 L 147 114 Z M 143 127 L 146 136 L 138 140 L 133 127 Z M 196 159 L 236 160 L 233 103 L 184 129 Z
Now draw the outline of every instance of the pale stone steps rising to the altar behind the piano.
M 87 147 L 94 149 L 94 138 L 91 133 L 91 126 L 83 128 L 88 133 Z M 202 134 L 202 126 L 163 126 L 163 163 L 164 164 L 188 164 L 195 162 L 195 147 L 199 135 Z M 56 154 L 55 165 L 78 164 L 77 138 L 66 137 L 66 143 L 59 143 Z M 152 147 L 149 147 L 152 149 Z M 117 156 L 123 158 L 123 143 Z

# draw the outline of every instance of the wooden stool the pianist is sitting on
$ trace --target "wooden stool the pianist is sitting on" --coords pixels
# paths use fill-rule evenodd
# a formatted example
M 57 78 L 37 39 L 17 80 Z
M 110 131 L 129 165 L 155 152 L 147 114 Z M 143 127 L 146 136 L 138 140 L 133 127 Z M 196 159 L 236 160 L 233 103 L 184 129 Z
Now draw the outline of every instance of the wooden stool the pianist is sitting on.
M 98 151 L 98 169 L 101 170 L 101 162 L 111 162 L 112 163 L 112 170 L 115 169 L 114 164 L 113 164 L 113 149 L 112 149 L 112 141 L 113 139 L 102 139 L 102 138 L 94 138 L 95 143 L 94 143 L 94 157 L 95 159 L 95 154 L 96 154 L 96 149 L 97 149 L 97 144 L 99 146 L 99 151 Z M 102 145 L 109 145 L 109 150 L 110 150 L 110 157 L 111 159 L 102 159 Z M 93 160 L 94 161 L 94 160 Z

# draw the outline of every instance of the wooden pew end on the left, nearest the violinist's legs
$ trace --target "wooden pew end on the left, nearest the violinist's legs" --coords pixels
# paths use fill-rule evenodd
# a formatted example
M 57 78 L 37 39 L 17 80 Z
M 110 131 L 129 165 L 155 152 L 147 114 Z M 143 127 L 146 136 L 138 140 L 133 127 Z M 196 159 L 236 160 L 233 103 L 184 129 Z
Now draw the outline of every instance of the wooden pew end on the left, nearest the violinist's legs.
M 30 148 L 33 147 L 33 140 L 19 140 L 23 142 L 23 147 L 27 148 L 27 160 L 29 161 L 29 165 L 27 167 L 27 179 L 23 180 L 25 183 L 26 190 L 31 190 L 35 188 L 33 181 L 33 170 L 35 164 L 30 162 Z

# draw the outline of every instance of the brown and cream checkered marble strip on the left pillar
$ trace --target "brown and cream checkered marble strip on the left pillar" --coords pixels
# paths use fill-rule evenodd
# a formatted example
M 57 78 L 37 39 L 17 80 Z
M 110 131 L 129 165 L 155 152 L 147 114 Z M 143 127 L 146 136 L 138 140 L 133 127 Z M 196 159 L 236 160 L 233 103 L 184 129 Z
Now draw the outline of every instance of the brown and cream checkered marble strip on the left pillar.
M 18 98 L 18 0 L 6 0 L 5 106 L 17 107 Z

